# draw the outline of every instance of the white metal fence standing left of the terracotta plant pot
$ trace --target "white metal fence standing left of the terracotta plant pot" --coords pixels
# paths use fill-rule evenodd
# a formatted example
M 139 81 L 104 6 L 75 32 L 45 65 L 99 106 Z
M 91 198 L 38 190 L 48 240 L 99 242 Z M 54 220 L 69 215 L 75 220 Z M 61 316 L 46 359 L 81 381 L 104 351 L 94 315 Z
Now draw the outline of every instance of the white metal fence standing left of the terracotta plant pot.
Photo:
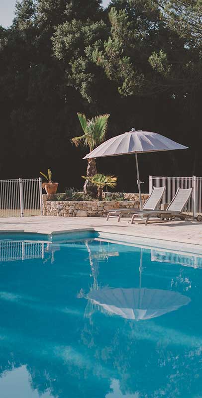
M 41 178 L 0 180 L 0 217 L 42 215 Z

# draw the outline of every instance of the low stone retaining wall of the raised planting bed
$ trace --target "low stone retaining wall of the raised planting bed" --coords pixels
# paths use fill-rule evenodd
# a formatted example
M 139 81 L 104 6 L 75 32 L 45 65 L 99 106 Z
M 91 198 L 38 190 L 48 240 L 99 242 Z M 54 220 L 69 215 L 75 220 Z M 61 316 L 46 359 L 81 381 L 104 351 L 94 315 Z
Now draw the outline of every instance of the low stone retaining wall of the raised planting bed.
M 50 200 L 53 196 L 43 195 L 43 214 L 63 217 L 105 217 L 109 210 L 114 208 L 139 208 L 138 194 L 128 195 L 129 200 L 102 200 L 102 201 L 63 201 Z M 132 197 L 131 197 L 132 196 Z M 148 194 L 142 194 L 142 202 Z

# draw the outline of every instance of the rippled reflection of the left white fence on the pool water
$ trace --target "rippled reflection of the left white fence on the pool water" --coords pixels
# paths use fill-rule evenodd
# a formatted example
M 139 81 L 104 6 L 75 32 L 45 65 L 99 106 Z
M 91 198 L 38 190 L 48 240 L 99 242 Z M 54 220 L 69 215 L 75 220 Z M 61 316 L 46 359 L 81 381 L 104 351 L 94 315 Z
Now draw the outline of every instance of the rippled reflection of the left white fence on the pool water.
M 0 241 L 0 262 L 44 259 L 43 242 Z

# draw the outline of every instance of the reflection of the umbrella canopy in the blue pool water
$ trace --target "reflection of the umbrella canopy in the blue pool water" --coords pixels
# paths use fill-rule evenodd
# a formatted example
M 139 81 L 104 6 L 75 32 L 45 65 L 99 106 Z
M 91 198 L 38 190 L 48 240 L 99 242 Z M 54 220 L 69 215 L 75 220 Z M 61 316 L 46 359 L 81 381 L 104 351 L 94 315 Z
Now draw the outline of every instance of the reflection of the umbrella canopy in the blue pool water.
M 110 315 L 126 319 L 151 319 L 187 305 L 191 299 L 178 292 L 158 289 L 92 290 L 88 298 Z

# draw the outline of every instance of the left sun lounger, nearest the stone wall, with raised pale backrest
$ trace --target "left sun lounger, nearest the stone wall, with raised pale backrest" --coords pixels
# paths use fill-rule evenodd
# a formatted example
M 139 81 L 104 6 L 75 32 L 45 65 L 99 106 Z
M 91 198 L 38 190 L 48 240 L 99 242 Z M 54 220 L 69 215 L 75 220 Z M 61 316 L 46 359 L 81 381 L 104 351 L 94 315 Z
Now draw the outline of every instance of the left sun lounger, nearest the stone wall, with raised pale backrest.
M 144 203 L 142 210 L 136 208 L 117 208 L 110 210 L 107 214 L 106 221 L 108 221 L 109 218 L 118 218 L 119 222 L 124 214 L 142 214 L 144 211 L 155 210 L 164 195 L 165 189 L 166 187 L 153 187 L 151 195 Z

